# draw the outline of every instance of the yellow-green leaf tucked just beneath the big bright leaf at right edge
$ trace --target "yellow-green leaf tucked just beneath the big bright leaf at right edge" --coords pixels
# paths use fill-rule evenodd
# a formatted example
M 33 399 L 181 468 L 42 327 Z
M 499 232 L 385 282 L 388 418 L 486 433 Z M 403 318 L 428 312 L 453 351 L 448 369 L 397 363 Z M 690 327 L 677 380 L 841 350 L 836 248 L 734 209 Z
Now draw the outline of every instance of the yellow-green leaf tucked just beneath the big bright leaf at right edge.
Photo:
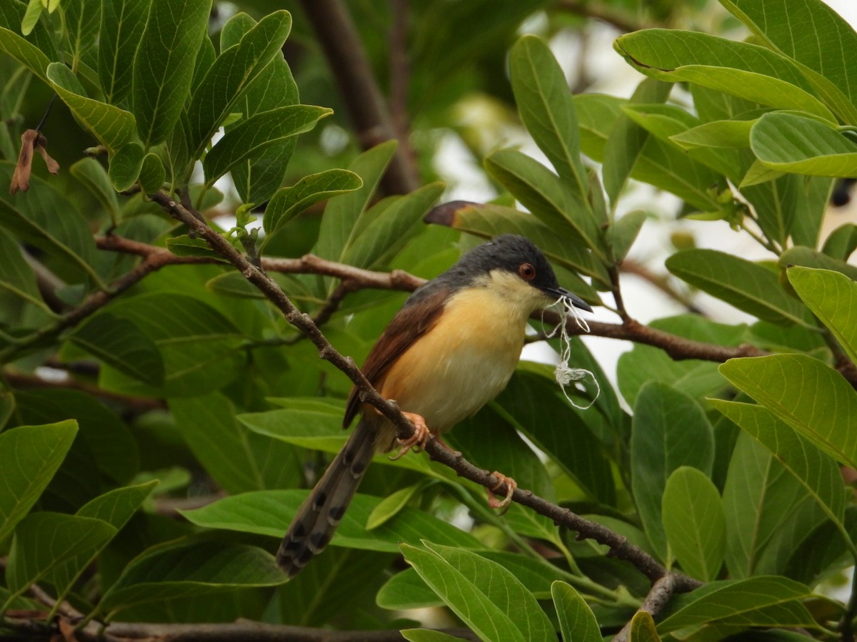
M 711 399 L 711 404 L 728 419 L 749 432 L 782 467 L 797 479 L 812 495 L 842 532 L 845 516 L 845 487 L 842 474 L 830 456 L 817 449 L 806 437 L 793 431 L 764 407 L 737 401 Z

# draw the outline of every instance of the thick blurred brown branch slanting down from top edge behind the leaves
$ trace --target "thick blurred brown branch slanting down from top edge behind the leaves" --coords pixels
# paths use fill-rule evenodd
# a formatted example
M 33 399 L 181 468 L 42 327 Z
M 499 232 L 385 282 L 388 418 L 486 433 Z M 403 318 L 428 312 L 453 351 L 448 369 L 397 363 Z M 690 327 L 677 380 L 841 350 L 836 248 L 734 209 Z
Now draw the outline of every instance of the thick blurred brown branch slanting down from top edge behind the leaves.
M 302 0 L 301 5 L 327 56 L 337 85 L 345 100 L 363 149 L 396 138 L 390 110 L 381 94 L 357 28 L 342 0 Z M 381 180 L 388 194 L 405 194 L 419 187 L 419 174 L 407 138 L 399 138 L 399 148 Z

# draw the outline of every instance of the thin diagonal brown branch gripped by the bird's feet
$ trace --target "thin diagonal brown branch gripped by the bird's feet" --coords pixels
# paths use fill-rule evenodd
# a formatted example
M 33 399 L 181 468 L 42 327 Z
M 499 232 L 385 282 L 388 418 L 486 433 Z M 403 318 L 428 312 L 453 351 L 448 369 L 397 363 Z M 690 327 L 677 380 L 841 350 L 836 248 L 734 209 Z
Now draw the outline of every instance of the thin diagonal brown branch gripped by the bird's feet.
M 222 235 L 219 235 L 218 232 L 208 227 L 207 224 L 201 223 L 181 203 L 178 203 L 165 193 L 153 194 L 152 199 L 161 205 L 171 217 L 184 223 L 196 235 L 205 239 L 216 253 L 228 259 L 243 274 L 244 278 L 253 283 L 256 288 L 259 288 L 261 293 L 265 294 L 267 299 L 283 312 L 285 319 L 306 334 L 309 340 L 315 344 L 321 359 L 329 361 L 351 379 L 359 390 L 361 401 L 371 404 L 384 414 L 387 419 L 393 422 L 399 437 L 405 439 L 413 435 L 413 425 L 411 425 L 408 419 L 405 419 L 395 402 L 387 401 L 378 394 L 377 390 L 364 377 L 363 372 L 357 368 L 354 360 L 339 354 L 333 348 L 333 345 L 327 341 L 327 338 L 321 333 L 318 326 L 309 318 L 309 315 L 300 312 L 276 282 L 261 272 L 261 270 L 258 270 L 255 265 L 250 263 Z M 428 442 L 426 452 L 434 461 L 439 461 L 441 464 L 452 468 L 459 477 L 470 479 L 470 481 L 476 482 L 476 484 L 480 484 L 485 488 L 493 489 L 500 495 L 506 494 L 506 484 L 501 483 L 498 485 L 498 479 L 494 477 L 494 473 L 473 466 L 469 461 L 464 460 L 464 457 L 460 454 L 446 448 L 436 440 L 431 439 Z M 566 528 L 578 532 L 578 538 L 594 539 L 599 544 L 605 544 L 610 549 L 608 555 L 631 562 L 653 582 L 668 574 L 667 569 L 657 562 L 654 557 L 637 546 L 628 543 L 626 538 L 621 537 L 600 524 L 584 520 L 578 514 L 574 514 L 566 508 L 561 508 L 556 504 L 548 502 L 542 499 L 542 497 L 536 496 L 530 490 L 515 489 L 512 492 L 512 501 L 532 508 L 536 513 L 548 517 L 557 525 L 566 526 Z M 700 586 L 697 580 L 692 580 L 685 575 L 676 575 L 675 581 L 676 591 L 690 591 Z

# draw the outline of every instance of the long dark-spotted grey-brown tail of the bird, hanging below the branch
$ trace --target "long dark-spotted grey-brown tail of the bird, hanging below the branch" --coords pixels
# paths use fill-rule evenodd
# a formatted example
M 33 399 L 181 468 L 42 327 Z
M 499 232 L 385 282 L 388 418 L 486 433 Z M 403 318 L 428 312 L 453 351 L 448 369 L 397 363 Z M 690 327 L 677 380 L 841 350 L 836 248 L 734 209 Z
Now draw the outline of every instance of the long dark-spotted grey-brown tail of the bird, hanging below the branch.
M 327 467 L 301 508 L 297 509 L 279 545 L 277 563 L 289 577 L 297 575 L 316 553 L 321 553 L 330 543 L 373 455 L 375 428 L 366 419 L 361 419 L 343 449 Z

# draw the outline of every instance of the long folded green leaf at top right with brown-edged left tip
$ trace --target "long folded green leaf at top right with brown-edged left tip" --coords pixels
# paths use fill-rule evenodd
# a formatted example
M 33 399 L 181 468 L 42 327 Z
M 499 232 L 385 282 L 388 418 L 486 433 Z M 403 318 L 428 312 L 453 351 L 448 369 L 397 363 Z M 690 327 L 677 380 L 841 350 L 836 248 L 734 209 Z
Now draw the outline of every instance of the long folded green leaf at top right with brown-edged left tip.
M 830 110 L 813 95 L 813 87 L 800 68 L 758 45 L 704 33 L 644 29 L 620 36 L 614 49 L 641 73 L 658 80 L 697 83 L 755 103 L 808 111 L 835 122 Z

